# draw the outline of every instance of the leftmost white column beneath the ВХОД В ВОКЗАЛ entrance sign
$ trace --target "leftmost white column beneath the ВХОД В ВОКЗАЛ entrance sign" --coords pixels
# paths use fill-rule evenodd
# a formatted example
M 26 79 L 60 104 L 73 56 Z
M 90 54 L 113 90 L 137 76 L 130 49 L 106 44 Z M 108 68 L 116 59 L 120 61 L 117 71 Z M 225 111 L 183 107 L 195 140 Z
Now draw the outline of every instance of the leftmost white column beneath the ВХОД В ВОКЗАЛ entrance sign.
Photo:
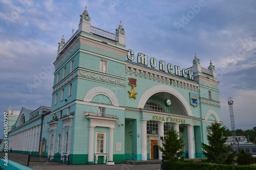
M 141 124 L 141 160 L 147 160 L 146 152 L 146 122 L 148 119 L 140 119 Z

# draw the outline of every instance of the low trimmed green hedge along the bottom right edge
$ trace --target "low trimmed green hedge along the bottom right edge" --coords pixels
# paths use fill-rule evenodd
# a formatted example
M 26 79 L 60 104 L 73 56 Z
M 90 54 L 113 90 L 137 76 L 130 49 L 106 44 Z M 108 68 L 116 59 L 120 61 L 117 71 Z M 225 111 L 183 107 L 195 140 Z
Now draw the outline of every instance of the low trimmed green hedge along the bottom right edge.
M 204 162 L 195 162 L 195 163 L 184 163 L 184 162 L 164 162 L 163 163 L 164 170 L 256 170 L 256 166 L 253 165 L 224 165 L 224 164 L 216 164 L 216 163 L 204 163 Z

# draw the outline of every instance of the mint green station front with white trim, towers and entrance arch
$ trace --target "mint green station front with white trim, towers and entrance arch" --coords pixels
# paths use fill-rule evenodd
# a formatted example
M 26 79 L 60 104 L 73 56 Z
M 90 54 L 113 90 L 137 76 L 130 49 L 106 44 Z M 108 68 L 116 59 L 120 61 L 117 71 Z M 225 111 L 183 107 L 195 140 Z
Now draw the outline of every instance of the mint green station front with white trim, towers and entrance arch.
M 138 64 L 125 48 L 121 23 L 113 34 L 92 27 L 87 10 L 80 16 L 78 31 L 59 43 L 51 112 L 28 124 L 42 127 L 39 150 L 31 152 L 70 155 L 72 164 L 161 159 L 160 136 L 174 128 L 183 136 L 184 157 L 204 157 L 207 126 L 221 122 L 212 63 L 203 68 L 195 55 L 185 71 L 191 80 L 151 68 L 147 57 L 147 65 Z

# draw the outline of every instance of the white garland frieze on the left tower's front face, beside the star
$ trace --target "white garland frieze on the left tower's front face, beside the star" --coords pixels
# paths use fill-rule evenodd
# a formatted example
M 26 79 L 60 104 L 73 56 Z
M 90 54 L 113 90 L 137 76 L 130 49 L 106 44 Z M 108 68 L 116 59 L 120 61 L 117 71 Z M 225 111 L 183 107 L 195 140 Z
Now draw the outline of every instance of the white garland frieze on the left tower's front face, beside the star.
M 125 86 L 125 79 L 116 78 L 113 76 L 106 76 L 106 75 L 98 74 L 93 71 L 79 70 L 79 76 L 82 76 L 84 78 L 95 79 L 95 80 L 99 80 L 99 81 L 103 81 L 103 82 L 108 82 L 108 83 L 112 83 L 112 84 Z

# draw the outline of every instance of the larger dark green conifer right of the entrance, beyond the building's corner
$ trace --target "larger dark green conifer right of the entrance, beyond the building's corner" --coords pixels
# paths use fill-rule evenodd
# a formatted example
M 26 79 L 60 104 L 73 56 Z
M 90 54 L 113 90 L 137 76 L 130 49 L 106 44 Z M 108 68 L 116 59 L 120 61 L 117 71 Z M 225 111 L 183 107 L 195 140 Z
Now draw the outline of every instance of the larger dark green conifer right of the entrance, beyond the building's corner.
M 207 160 L 219 164 L 234 163 L 236 153 L 231 153 L 232 145 L 225 145 L 227 140 L 227 137 L 224 136 L 226 127 L 222 127 L 222 124 L 216 122 L 209 129 L 211 130 L 211 134 L 207 135 L 209 145 L 201 143 L 201 147 L 204 150 L 203 154 L 207 157 Z

